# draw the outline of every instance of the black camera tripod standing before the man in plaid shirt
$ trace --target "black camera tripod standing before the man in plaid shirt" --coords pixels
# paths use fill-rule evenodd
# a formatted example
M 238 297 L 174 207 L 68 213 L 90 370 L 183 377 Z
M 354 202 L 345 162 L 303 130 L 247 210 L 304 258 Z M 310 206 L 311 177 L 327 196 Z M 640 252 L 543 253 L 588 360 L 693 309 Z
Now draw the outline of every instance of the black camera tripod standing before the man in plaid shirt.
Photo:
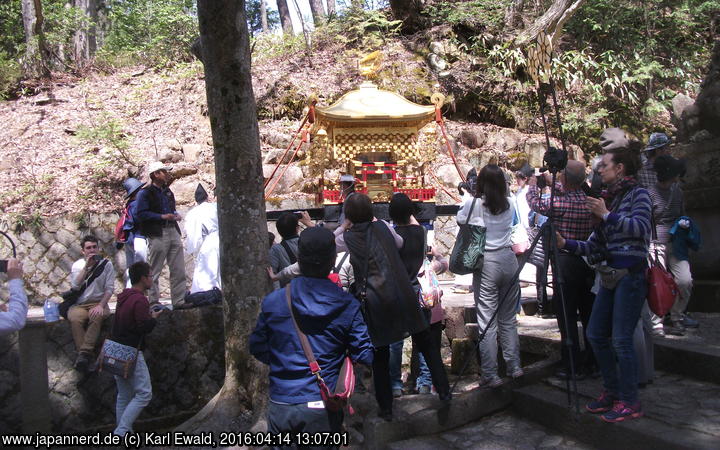
M 573 342 L 573 339 L 571 337 L 570 330 L 569 330 L 569 323 L 567 320 L 567 307 L 566 307 L 565 296 L 564 296 L 565 280 L 564 280 L 564 277 L 562 274 L 562 270 L 560 269 L 560 265 L 557 263 L 560 251 L 557 247 L 557 235 L 555 234 L 556 233 L 556 225 L 555 225 L 555 202 L 554 202 L 554 200 L 555 200 L 555 190 L 556 190 L 555 183 L 557 181 L 557 173 L 559 170 L 560 170 L 560 168 L 557 168 L 557 167 L 550 168 L 550 173 L 552 174 L 552 184 L 550 187 L 550 209 L 549 209 L 549 213 L 548 213 L 548 220 L 540 227 L 540 231 L 533 239 L 533 241 L 530 245 L 530 248 L 523 254 L 523 256 L 521 258 L 521 263 L 518 264 L 518 268 L 515 271 L 515 273 L 513 274 L 512 282 L 513 283 L 519 282 L 520 272 L 522 271 L 523 267 L 525 267 L 525 264 L 527 264 L 528 259 L 530 258 L 530 255 L 532 254 L 533 250 L 535 249 L 538 242 L 540 241 L 540 238 L 543 236 L 547 236 L 548 241 L 549 241 L 548 242 L 549 251 L 546 252 L 545 258 L 546 258 L 546 260 L 549 260 L 550 266 L 552 267 L 552 270 L 553 270 L 553 272 L 552 272 L 553 273 L 553 296 L 555 296 L 555 295 L 558 296 L 558 299 L 559 299 L 559 302 L 561 305 L 561 309 L 562 309 L 563 319 L 564 319 L 563 320 L 563 328 L 565 331 L 565 333 L 564 333 L 565 336 L 562 339 L 562 341 L 563 341 L 562 345 L 566 347 L 567 353 L 569 355 L 569 362 L 570 362 L 570 374 L 569 374 L 570 376 L 567 377 L 565 380 L 565 387 L 566 387 L 567 394 L 568 394 L 568 406 L 570 407 L 574 403 L 575 411 L 577 413 L 579 413 L 580 412 L 580 404 L 579 404 L 579 398 L 578 398 L 578 392 L 577 392 L 577 380 L 575 378 L 575 360 L 574 360 L 575 357 L 574 357 L 574 352 L 573 352 L 574 342 Z M 545 266 L 546 266 L 545 270 L 547 270 L 548 265 L 546 264 Z M 482 283 L 482 279 L 480 280 L 480 282 Z M 504 293 L 502 294 L 502 296 L 503 296 L 502 299 L 500 299 L 498 301 L 498 305 L 500 303 L 507 301 L 507 296 L 509 295 L 510 292 L 511 292 L 511 290 L 504 291 Z M 476 355 L 480 351 L 480 345 L 482 344 L 483 339 L 485 338 L 485 335 L 487 334 L 488 329 L 490 328 L 490 325 L 492 325 L 493 320 L 495 320 L 497 318 L 499 309 L 500 308 L 498 307 L 495 309 L 495 311 L 493 311 L 493 314 L 490 316 L 490 319 L 488 320 L 487 325 L 480 333 L 480 335 L 478 337 L 478 342 L 475 346 Z M 465 370 L 467 369 L 469 362 L 470 362 L 469 359 L 465 360 L 465 364 L 463 364 L 463 367 L 460 370 L 458 379 L 455 380 L 455 383 L 453 383 L 453 386 L 450 389 L 450 392 L 455 391 L 457 383 L 458 383 L 460 377 L 462 377 L 462 375 L 465 373 Z M 572 386 L 571 386 L 571 384 L 572 384 Z M 574 402 L 573 402 L 573 399 L 574 399 Z

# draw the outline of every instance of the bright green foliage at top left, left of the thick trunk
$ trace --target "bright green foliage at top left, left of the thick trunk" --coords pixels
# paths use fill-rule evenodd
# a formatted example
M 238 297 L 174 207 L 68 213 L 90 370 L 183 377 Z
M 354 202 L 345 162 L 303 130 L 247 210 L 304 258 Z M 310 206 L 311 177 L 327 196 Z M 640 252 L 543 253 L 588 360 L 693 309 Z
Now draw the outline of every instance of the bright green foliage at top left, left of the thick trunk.
M 192 59 L 190 47 L 199 35 L 192 0 L 111 0 L 108 10 L 112 27 L 98 52 L 101 60 L 168 66 Z

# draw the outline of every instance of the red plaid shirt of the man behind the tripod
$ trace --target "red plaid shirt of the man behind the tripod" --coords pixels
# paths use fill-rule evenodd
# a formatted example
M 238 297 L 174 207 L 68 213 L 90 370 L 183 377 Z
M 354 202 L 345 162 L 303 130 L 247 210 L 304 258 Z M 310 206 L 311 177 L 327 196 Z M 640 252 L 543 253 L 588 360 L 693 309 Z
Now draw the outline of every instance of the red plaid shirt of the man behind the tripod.
M 556 185 L 555 198 L 555 226 L 565 239 L 584 241 L 592 233 L 592 215 L 587 207 L 587 196 L 580 190 L 563 191 Z M 550 197 L 540 195 L 537 186 L 530 186 L 527 193 L 530 209 L 536 213 L 547 216 L 550 214 Z

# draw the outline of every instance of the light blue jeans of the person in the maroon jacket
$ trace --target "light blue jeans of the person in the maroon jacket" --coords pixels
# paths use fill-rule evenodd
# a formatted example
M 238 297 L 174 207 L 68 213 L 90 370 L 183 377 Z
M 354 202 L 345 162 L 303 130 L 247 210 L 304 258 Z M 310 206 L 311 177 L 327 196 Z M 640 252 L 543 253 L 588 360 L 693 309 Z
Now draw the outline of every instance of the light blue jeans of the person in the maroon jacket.
M 113 433 L 124 436 L 125 433 L 132 432 L 133 422 L 152 399 L 150 372 L 142 352 L 138 352 L 133 374 L 127 379 L 115 375 L 115 384 L 118 388 L 115 404 L 117 428 Z

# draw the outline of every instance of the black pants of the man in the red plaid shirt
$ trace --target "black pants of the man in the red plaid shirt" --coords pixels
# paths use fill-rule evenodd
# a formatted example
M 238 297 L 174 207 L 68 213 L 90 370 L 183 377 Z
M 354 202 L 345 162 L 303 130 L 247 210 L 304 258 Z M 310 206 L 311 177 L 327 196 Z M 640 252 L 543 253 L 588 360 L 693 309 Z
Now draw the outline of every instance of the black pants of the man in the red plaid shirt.
M 595 301 L 595 295 L 591 292 L 595 282 L 595 271 L 590 268 L 585 261 L 579 256 L 560 253 L 557 261 L 558 269 L 562 272 L 564 287 L 563 297 L 565 298 L 565 314 L 563 314 L 562 305 L 560 304 L 560 296 L 553 295 L 553 306 L 555 308 L 560 328 L 560 335 L 563 339 L 562 360 L 564 366 L 570 370 L 570 355 L 567 346 L 564 345 L 566 339 L 564 317 L 567 316 L 568 327 L 572 339 L 573 361 L 575 362 L 575 371 L 580 368 L 591 368 L 596 366 L 595 357 L 593 356 L 590 342 L 587 339 L 587 326 L 592 312 L 592 305 Z M 577 321 L 583 326 L 583 339 L 585 342 L 585 354 L 580 354 L 580 342 L 578 336 Z

